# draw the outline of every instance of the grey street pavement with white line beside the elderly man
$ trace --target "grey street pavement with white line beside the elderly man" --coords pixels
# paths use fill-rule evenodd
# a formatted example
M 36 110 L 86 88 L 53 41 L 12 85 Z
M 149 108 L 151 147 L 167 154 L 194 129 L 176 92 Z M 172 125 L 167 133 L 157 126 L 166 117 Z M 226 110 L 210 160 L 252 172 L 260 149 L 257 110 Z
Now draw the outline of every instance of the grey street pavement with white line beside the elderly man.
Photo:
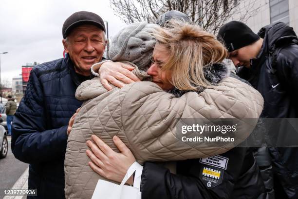
M 0 199 L 4 197 L 4 190 L 16 188 L 27 188 L 28 166 L 19 161 L 11 152 L 11 137 L 7 137 L 9 143 L 8 154 L 4 159 L 0 159 Z M 21 178 L 20 178 L 21 177 Z M 5 197 L 4 199 L 21 199 L 22 197 Z

